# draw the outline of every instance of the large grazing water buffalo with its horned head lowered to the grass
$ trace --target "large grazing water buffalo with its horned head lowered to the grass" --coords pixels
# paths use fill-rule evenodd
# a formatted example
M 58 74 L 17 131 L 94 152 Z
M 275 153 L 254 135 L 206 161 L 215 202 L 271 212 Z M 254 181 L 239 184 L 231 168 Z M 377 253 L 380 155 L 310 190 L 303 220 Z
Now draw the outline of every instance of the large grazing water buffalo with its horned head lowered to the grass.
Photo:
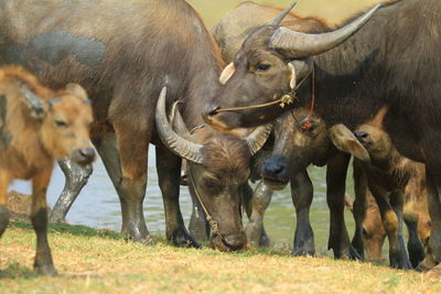
M 200 137 L 197 143 L 206 146 L 204 154 L 195 156 L 180 150 L 182 144 L 173 145 L 166 140 L 162 140 L 165 144 L 162 143 L 154 128 L 155 105 L 164 85 L 169 90 L 166 106 L 176 100 L 182 102 L 181 112 L 189 130 L 203 122 L 200 113 L 218 88 L 223 62 L 218 47 L 197 13 L 182 0 L 118 3 L 34 1 L 32 4 L 29 1 L 3 1 L 0 8 L 4 20 L 1 23 L 0 63 L 22 64 L 35 72 L 45 85 L 55 88 L 65 80 L 74 80 L 89 91 L 95 113 L 92 140 L 118 192 L 122 232 L 132 240 L 151 242 L 142 213 L 151 142 L 157 149 L 166 238 L 174 244 L 197 247 L 184 227 L 179 206 L 180 156 L 207 167 L 205 170 L 209 172 L 208 167 L 219 166 L 218 162 L 216 165 L 216 157 L 206 154 L 218 154 L 225 146 L 239 145 L 236 151 L 240 153 L 237 155 L 244 155 L 247 165 L 250 150 L 246 148 L 251 145 L 252 152 L 259 145 L 251 138 L 240 140 L 224 134 L 208 135 L 205 128 L 196 131 Z M 235 143 L 232 143 L 233 140 Z M 173 150 L 170 151 L 169 146 Z M 196 172 L 194 164 L 189 166 L 197 174 L 194 176 L 197 181 L 204 181 L 205 175 L 209 175 Z M 74 166 L 65 163 L 62 167 L 72 173 Z M 82 173 L 69 176 L 66 188 L 78 192 L 85 183 L 84 177 L 88 173 L 83 170 L 77 172 Z M 230 193 L 238 192 L 232 188 Z M 232 198 L 234 203 L 230 203 Z M 240 248 L 244 239 L 241 222 L 236 217 L 238 211 L 223 210 L 228 205 L 237 206 L 237 198 L 232 194 L 230 197 L 203 199 L 214 218 L 223 213 L 215 220 L 224 237 L 224 247 L 233 240 L 232 248 Z

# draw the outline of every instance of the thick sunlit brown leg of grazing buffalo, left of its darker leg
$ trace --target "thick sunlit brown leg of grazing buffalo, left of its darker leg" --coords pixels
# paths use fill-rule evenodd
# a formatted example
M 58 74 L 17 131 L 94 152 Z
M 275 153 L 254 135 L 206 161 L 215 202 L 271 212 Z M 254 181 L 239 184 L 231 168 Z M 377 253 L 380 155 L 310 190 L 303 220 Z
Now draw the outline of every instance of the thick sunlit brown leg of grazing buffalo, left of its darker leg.
M 122 215 L 121 232 L 131 240 L 152 244 L 142 210 L 147 186 L 148 143 L 126 130 L 94 139 L 107 173 L 117 189 Z M 117 138 L 118 137 L 118 138 Z M 122 157 L 123 156 L 123 157 Z

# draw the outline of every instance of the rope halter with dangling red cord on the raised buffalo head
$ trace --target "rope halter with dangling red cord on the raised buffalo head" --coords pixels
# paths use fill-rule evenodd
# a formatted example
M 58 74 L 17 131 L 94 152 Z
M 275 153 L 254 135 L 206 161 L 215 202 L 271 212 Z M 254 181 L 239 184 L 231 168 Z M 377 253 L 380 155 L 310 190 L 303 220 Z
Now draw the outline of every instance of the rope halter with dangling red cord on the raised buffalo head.
M 299 83 L 298 87 L 300 87 L 306 79 L 308 79 L 308 76 Z M 219 108 L 219 109 L 214 110 L 213 112 L 220 113 L 220 112 L 249 110 L 249 109 L 265 108 L 265 107 L 273 106 L 273 105 L 279 105 L 281 108 L 284 108 L 284 106 L 292 104 L 294 101 L 294 99 L 298 99 L 298 97 L 295 96 L 295 90 L 291 90 L 290 92 L 282 95 L 282 97 L 280 97 L 279 99 L 273 100 L 271 102 L 254 105 L 254 106 L 244 106 L 244 107 Z M 294 119 L 299 123 L 300 128 L 305 129 L 305 130 L 311 128 L 311 118 L 314 112 L 314 106 L 315 106 L 315 66 L 312 65 L 310 113 L 306 117 L 306 121 L 304 121 L 303 123 L 300 123 L 297 120 L 297 118 L 294 117 Z M 293 113 L 292 113 L 292 116 L 293 116 Z

